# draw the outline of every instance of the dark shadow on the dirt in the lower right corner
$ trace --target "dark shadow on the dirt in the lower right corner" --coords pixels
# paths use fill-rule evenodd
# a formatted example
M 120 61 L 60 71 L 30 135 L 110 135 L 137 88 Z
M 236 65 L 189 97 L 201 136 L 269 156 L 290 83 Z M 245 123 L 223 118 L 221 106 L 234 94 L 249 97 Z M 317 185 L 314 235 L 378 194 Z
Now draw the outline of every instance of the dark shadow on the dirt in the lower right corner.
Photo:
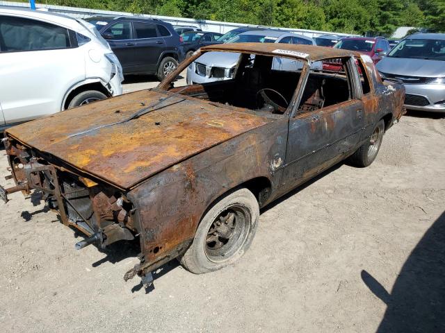
M 445 212 L 412 250 L 391 293 L 367 271 L 362 280 L 387 305 L 378 333 L 445 332 Z

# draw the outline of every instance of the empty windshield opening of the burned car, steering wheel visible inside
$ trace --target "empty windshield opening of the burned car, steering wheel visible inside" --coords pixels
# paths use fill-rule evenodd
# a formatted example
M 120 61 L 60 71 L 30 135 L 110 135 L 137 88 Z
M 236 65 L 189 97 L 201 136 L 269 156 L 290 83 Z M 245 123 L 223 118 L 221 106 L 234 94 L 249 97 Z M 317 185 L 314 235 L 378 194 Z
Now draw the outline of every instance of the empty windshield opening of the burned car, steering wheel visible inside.
M 177 76 L 163 81 L 159 89 L 218 103 L 220 108 L 281 117 L 296 94 L 305 62 L 286 56 L 209 51 L 186 60 Z

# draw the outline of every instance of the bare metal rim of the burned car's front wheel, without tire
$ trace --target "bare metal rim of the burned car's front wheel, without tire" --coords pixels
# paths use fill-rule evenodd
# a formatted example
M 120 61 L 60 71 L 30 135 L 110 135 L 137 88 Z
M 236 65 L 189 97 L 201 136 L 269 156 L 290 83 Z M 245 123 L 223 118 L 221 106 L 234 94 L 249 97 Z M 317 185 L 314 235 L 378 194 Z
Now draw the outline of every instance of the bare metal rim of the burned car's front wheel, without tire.
M 232 205 L 221 212 L 207 232 L 205 253 L 211 262 L 224 262 L 243 247 L 250 231 L 249 211 Z

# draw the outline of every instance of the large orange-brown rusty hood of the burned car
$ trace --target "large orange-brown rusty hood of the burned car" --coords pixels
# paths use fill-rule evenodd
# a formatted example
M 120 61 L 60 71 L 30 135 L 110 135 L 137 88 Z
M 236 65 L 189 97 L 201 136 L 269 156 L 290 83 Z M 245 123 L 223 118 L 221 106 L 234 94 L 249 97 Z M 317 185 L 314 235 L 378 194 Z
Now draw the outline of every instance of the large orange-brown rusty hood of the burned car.
M 167 96 L 171 95 L 149 90 L 125 94 L 6 132 L 84 173 L 129 189 L 154 173 L 268 122 L 248 112 L 176 94 L 137 119 L 108 126 Z

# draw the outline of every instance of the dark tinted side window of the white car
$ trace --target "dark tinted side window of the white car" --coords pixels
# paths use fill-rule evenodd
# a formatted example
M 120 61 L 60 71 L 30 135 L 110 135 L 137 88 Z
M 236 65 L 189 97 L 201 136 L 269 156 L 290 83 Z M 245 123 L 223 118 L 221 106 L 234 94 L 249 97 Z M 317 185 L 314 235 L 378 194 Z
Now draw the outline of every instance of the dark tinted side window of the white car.
M 2 52 L 72 47 L 67 28 L 21 17 L 1 17 L 0 40 Z

